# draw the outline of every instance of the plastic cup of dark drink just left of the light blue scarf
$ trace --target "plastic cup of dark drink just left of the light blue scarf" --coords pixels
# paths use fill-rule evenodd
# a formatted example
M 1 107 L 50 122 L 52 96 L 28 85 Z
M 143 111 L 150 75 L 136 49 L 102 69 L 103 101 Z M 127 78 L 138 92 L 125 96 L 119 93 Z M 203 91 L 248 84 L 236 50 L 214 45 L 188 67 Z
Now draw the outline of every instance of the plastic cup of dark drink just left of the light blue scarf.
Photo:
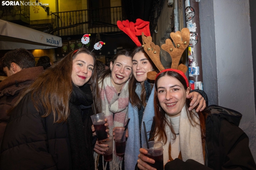
M 117 127 L 115 129 L 115 152 L 118 156 L 123 156 L 125 152 L 125 134 L 126 130 L 124 131 L 124 127 Z

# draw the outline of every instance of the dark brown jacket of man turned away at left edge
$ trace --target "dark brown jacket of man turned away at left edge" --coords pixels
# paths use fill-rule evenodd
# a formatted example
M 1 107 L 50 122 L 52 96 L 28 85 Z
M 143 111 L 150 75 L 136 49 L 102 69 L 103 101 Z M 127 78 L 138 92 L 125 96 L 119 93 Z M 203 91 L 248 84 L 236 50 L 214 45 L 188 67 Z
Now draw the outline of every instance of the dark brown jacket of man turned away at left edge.
M 9 119 L 6 111 L 14 105 L 20 90 L 29 86 L 43 71 L 42 66 L 23 69 L 0 82 L 0 143 Z

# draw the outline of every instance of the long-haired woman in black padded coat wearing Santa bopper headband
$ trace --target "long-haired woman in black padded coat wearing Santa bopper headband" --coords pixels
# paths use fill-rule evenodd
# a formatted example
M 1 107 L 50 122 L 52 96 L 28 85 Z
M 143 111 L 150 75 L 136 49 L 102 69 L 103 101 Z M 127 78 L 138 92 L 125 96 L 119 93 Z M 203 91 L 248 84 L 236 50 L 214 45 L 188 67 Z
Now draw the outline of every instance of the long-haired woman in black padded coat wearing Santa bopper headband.
M 89 50 L 71 51 L 23 90 L 10 111 L 0 169 L 94 170 L 95 63 Z

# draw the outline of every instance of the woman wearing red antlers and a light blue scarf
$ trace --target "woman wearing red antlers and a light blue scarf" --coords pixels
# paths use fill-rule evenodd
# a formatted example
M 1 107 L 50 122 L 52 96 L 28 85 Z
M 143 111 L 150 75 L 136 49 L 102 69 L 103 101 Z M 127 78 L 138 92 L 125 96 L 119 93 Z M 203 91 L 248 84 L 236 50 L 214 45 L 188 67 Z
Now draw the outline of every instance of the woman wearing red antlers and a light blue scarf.
M 151 71 L 161 71 L 164 68 L 162 65 L 161 67 L 156 67 L 161 64 L 159 58 L 160 48 L 151 42 L 152 38 L 150 36 L 148 21 L 143 21 L 141 19 L 137 19 L 136 23 L 129 22 L 128 20 L 123 22 L 118 21 L 117 25 L 119 29 L 128 34 L 138 46 L 132 53 L 133 76 L 129 82 L 128 106 L 128 117 L 131 118 L 128 125 L 129 137 L 127 140 L 127 148 L 129 149 L 125 150 L 124 155 L 125 169 L 133 169 L 137 163 L 136 158 L 139 154 L 141 143 L 145 141 L 144 137 L 141 137 L 141 132 L 143 131 L 143 127 L 141 126 L 142 121 L 145 121 L 146 127 L 149 130 L 154 116 L 153 95 L 151 95 L 151 91 L 153 91 L 153 81 L 147 80 L 147 74 Z M 141 45 L 138 40 L 137 36 L 139 35 L 142 35 L 143 45 Z M 189 42 L 189 39 L 186 41 Z M 188 44 L 186 47 L 187 46 Z M 155 50 L 152 51 L 152 48 Z M 205 108 L 205 100 L 198 92 L 191 92 L 187 97 L 193 97 L 190 109 L 193 109 L 198 104 L 197 111 Z

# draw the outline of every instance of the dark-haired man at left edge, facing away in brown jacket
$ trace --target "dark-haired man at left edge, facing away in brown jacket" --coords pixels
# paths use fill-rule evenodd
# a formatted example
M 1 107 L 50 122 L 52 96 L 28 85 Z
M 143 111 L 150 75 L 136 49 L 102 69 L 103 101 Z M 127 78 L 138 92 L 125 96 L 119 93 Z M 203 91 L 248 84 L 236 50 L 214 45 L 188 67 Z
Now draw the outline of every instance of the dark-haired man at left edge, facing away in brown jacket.
M 43 72 L 43 67 L 35 67 L 33 54 L 23 48 L 7 52 L 1 65 L 7 78 L 0 82 L 0 141 L 9 120 L 7 110 L 17 101 L 20 91 Z

